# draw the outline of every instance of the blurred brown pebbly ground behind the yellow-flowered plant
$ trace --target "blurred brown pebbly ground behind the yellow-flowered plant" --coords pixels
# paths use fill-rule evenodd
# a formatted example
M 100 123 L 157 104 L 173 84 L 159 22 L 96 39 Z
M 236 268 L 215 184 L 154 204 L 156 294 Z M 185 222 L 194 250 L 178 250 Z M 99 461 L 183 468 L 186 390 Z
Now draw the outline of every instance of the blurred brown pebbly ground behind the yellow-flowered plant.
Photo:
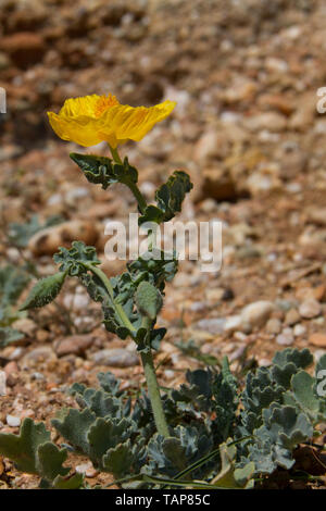
M 88 184 L 68 158 L 80 148 L 55 138 L 46 112 L 88 94 L 131 105 L 175 100 L 171 117 L 122 153 L 141 170 L 150 200 L 175 169 L 190 173 L 181 217 L 223 221 L 223 267 L 180 263 L 159 321 L 168 328 L 160 382 L 175 387 L 204 356 L 228 354 L 236 371 L 253 358 L 266 365 L 287 346 L 321 357 L 326 114 L 316 111 L 316 91 L 326 85 L 325 27 L 323 0 L 1 0 L 1 265 L 28 260 L 48 275 L 58 245 L 78 238 L 97 246 L 108 275 L 122 271 L 124 262 L 104 260 L 104 223 L 126 221 L 133 198 Z M 14 241 L 11 224 L 34 215 L 40 225 L 61 223 Z M 17 432 L 24 416 L 49 422 L 74 402 L 65 394 L 73 382 L 95 384 L 102 370 L 130 389 L 143 384 L 134 344 L 102 329 L 74 282 L 57 306 L 14 326 L 23 337 L 0 350 L 2 431 Z M 10 474 L 4 486 L 34 484 Z

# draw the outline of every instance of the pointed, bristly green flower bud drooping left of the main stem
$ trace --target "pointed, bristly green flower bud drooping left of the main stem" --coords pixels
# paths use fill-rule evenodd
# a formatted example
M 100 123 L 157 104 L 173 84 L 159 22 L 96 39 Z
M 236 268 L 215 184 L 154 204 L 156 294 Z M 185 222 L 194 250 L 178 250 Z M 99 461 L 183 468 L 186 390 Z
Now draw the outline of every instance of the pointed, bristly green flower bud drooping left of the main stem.
M 61 291 L 65 276 L 65 272 L 59 272 L 38 281 L 21 307 L 21 311 L 43 307 L 53 301 Z

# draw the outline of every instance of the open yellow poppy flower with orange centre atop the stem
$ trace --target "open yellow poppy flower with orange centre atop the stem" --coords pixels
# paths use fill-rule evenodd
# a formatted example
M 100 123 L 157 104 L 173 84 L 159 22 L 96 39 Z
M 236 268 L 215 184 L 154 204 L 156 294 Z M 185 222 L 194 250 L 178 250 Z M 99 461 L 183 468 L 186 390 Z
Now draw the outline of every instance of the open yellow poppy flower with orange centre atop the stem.
M 52 128 L 63 140 L 84 147 L 104 140 L 115 149 L 128 139 L 141 140 L 175 105 L 174 101 L 164 101 L 150 108 L 134 108 L 121 104 L 112 95 L 91 95 L 67 99 L 59 114 L 48 112 L 48 115 Z

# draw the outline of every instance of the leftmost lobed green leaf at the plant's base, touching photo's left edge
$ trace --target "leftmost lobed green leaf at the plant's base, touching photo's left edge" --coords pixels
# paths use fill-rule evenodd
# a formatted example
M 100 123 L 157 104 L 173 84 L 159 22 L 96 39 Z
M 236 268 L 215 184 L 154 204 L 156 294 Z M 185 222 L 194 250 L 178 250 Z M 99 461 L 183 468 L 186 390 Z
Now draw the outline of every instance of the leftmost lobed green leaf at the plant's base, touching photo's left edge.
M 37 474 L 37 450 L 50 440 L 45 424 L 24 419 L 18 435 L 0 433 L 0 454 L 10 458 L 22 472 Z

